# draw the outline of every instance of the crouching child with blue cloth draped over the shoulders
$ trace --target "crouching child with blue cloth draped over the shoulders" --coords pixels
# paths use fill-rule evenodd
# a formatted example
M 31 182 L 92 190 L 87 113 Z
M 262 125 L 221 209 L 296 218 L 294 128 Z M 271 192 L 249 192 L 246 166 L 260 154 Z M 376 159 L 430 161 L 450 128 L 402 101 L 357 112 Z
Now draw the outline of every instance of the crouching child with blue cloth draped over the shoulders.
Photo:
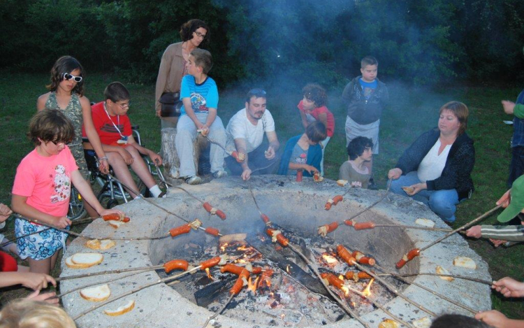
M 304 134 L 290 138 L 280 159 L 278 174 L 296 175 L 298 170 L 303 170 L 304 176 L 313 176 L 319 172 L 322 160 L 319 143 L 325 138 L 326 126 L 320 121 L 309 124 Z

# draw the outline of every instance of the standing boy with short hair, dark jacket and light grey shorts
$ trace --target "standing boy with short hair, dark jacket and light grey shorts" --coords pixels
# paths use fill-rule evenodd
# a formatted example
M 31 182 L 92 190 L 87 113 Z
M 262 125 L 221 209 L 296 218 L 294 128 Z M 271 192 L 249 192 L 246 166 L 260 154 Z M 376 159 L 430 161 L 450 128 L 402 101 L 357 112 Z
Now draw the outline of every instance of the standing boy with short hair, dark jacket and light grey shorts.
M 361 60 L 362 76 L 357 76 L 344 88 L 342 101 L 347 106 L 346 145 L 357 136 L 373 142 L 373 154 L 379 153 L 379 124 L 384 106 L 388 103 L 388 88 L 377 78 L 379 62 L 372 56 Z M 367 162 L 372 174 L 372 161 Z M 374 185 L 371 178 L 371 185 Z

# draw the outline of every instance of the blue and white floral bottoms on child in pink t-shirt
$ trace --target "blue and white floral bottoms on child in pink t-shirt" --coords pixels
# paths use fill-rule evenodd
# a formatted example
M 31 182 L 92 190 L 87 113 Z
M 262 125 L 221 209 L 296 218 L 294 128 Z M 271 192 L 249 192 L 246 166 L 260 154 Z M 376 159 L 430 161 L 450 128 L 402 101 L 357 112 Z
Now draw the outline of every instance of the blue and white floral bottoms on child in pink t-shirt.
M 69 227 L 67 227 L 68 229 Z M 31 234 L 36 231 L 37 234 Z M 15 234 L 17 237 L 31 234 L 17 240 L 18 256 L 21 259 L 47 259 L 55 252 L 64 248 L 67 235 L 57 229 L 48 229 L 43 225 L 33 224 L 27 220 L 15 220 Z

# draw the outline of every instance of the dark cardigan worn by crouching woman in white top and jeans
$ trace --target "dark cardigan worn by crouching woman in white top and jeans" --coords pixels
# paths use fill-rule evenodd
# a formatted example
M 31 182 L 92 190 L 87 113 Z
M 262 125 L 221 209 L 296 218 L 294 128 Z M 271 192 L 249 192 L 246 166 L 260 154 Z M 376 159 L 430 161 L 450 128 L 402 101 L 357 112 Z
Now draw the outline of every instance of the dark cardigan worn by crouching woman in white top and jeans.
M 425 132 L 398 160 L 396 167 L 402 170 L 402 175 L 419 169 L 419 165 L 425 155 L 435 145 L 440 136 L 439 129 L 431 129 Z M 473 180 L 471 173 L 475 164 L 475 148 L 473 140 L 467 134 L 461 134 L 451 145 L 446 165 L 442 170 L 442 175 L 435 180 L 426 181 L 428 190 L 451 190 L 458 192 L 458 199 L 464 199 L 473 192 Z

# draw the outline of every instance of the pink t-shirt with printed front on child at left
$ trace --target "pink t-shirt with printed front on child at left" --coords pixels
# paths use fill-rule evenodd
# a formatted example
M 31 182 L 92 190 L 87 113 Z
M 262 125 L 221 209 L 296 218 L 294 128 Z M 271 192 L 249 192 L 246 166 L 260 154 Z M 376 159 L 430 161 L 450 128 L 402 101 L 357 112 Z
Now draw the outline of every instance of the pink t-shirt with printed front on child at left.
M 71 172 L 78 170 L 66 146 L 58 155 L 42 156 L 36 149 L 16 169 L 13 194 L 27 197 L 27 204 L 43 213 L 67 215 L 71 194 Z

